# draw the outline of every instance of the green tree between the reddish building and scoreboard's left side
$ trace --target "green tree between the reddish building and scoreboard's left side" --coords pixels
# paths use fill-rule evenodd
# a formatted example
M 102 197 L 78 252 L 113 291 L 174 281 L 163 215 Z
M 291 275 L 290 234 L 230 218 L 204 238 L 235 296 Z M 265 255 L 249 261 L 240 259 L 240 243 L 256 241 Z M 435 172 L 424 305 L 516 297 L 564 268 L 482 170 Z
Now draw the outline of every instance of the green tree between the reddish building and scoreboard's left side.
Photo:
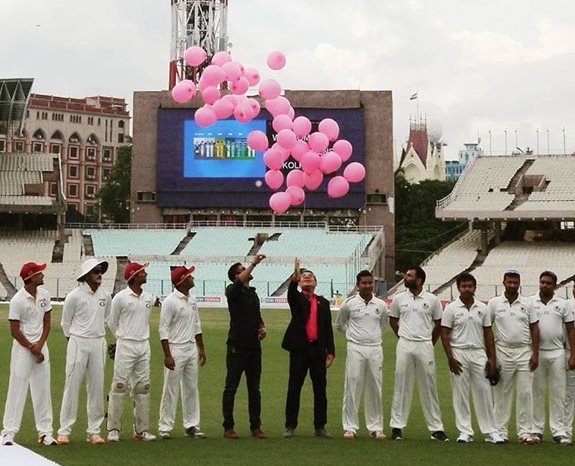
M 129 223 L 130 180 L 132 176 L 132 143 L 118 148 L 118 159 L 110 176 L 96 196 L 98 202 L 90 213 L 92 218 L 106 222 Z

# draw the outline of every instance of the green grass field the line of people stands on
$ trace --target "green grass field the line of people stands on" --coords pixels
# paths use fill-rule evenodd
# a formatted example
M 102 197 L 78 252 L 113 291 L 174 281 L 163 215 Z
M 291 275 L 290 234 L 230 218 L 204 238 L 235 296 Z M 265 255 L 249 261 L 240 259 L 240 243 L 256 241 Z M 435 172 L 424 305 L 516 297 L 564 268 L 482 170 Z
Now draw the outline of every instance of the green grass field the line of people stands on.
M 377 442 L 367 438 L 365 428 L 354 441 L 342 438 L 341 400 L 345 366 L 345 341 L 336 336 L 337 358 L 328 372 L 328 428 L 332 440 L 313 437 L 313 397 L 309 380 L 302 393 L 300 424 L 296 437 L 282 439 L 284 404 L 287 388 L 288 354 L 280 348 L 283 331 L 288 322 L 288 311 L 264 311 L 268 337 L 263 345 L 262 421 L 269 436 L 266 440 L 254 440 L 249 436 L 247 421 L 247 397 L 242 383 L 236 397 L 236 430 L 240 440 L 230 441 L 222 437 L 221 394 L 225 378 L 225 341 L 228 315 L 226 310 L 202 309 L 201 318 L 208 362 L 200 371 L 201 427 L 207 433 L 206 440 L 191 440 L 184 436 L 181 413 L 178 411 L 174 438 L 142 443 L 130 439 L 131 412 L 126 403 L 125 429 L 122 441 L 116 444 L 93 446 L 85 441 L 86 401 L 81 391 L 79 417 L 72 435 L 72 443 L 66 447 L 45 447 L 35 443 L 36 432 L 30 399 L 26 404 L 22 428 L 17 442 L 62 465 L 158 465 L 158 464 L 381 464 L 430 465 L 434 463 L 485 465 L 485 464 L 572 464 L 571 447 L 554 445 L 546 440 L 541 445 L 528 447 L 511 443 L 491 445 L 482 441 L 477 426 L 476 442 L 469 445 L 455 443 L 457 432 L 451 407 L 449 371 L 442 348 L 436 348 L 439 396 L 445 428 L 452 441 L 438 444 L 429 439 L 423 416 L 415 395 L 408 427 L 403 442 L 389 440 Z M 162 385 L 162 352 L 157 335 L 159 310 L 154 310 L 152 321 L 152 431 L 157 429 L 158 409 Z M 334 316 L 335 317 L 335 316 Z M 53 312 L 53 330 L 48 339 L 52 360 L 52 399 L 54 431 L 58 428 L 60 403 L 64 386 L 65 338 L 60 330 L 60 308 Z M 109 338 L 110 340 L 110 338 Z M 10 347 L 12 340 L 7 320 L 7 306 L 0 305 L 0 409 L 4 403 L 8 385 Z M 393 392 L 394 349 L 396 339 L 388 329 L 384 343 L 384 416 L 386 433 Z M 112 364 L 106 367 L 106 391 L 111 382 Z M 242 381 L 243 382 L 243 381 Z M 360 419 L 363 415 L 360 416 Z M 513 422 L 514 424 L 514 422 Z M 103 425 L 105 430 L 105 424 Z M 513 427 L 512 427 L 513 430 Z M 512 432 L 514 438 L 514 432 Z M 8 448 L 8 447 L 0 447 Z M 0 455 L 1 458 L 1 455 Z M 1 461 L 0 461 L 1 464 Z

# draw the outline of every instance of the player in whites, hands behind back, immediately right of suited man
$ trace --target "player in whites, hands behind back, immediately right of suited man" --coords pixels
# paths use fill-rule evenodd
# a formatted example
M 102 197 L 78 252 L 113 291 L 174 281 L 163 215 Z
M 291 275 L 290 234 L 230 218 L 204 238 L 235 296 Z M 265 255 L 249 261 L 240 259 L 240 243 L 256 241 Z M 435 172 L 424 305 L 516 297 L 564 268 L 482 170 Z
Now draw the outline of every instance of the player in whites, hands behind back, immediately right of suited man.
M 381 343 L 387 324 L 387 306 L 373 295 L 371 272 L 359 272 L 356 285 L 358 293 L 340 306 L 336 320 L 337 329 L 347 340 L 342 409 L 344 438 L 353 439 L 357 434 L 359 405 L 364 393 L 365 424 L 369 435 L 383 440 Z

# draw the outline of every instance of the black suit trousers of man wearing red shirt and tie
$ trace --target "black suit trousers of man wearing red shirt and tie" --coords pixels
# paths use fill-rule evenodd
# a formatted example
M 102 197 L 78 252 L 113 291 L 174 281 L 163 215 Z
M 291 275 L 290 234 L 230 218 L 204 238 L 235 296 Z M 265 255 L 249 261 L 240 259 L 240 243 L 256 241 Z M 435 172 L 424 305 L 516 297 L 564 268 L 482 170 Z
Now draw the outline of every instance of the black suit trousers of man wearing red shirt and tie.
M 314 427 L 323 429 L 327 423 L 325 352 L 316 344 L 310 344 L 306 349 L 290 351 L 286 428 L 297 427 L 301 389 L 308 370 L 313 386 Z

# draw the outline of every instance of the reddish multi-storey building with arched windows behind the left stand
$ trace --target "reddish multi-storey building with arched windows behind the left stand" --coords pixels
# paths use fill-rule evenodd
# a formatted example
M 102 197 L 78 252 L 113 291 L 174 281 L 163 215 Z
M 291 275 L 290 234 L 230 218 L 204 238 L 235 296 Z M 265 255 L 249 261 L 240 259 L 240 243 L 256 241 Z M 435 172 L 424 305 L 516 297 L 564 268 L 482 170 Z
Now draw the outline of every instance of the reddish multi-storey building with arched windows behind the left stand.
M 85 214 L 128 142 L 130 114 L 116 97 L 30 94 L 23 131 L 0 131 L 0 153 L 60 154 L 68 206 Z M 50 196 L 56 197 L 56 183 Z

